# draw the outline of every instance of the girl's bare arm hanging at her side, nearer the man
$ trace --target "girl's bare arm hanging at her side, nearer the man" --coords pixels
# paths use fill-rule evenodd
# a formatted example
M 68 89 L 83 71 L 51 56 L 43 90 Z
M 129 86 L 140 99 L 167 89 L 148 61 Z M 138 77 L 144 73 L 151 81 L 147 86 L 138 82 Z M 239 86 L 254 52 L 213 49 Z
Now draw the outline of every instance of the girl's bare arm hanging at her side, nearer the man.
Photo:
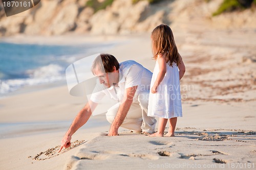
M 157 56 L 157 62 L 159 65 L 159 73 L 157 75 L 157 79 L 153 85 L 153 87 L 151 88 L 151 92 L 152 93 L 156 93 L 157 92 L 157 87 L 159 86 L 159 84 L 162 82 L 165 72 L 166 72 L 166 61 L 165 61 L 165 53 L 162 55 L 158 55 Z

